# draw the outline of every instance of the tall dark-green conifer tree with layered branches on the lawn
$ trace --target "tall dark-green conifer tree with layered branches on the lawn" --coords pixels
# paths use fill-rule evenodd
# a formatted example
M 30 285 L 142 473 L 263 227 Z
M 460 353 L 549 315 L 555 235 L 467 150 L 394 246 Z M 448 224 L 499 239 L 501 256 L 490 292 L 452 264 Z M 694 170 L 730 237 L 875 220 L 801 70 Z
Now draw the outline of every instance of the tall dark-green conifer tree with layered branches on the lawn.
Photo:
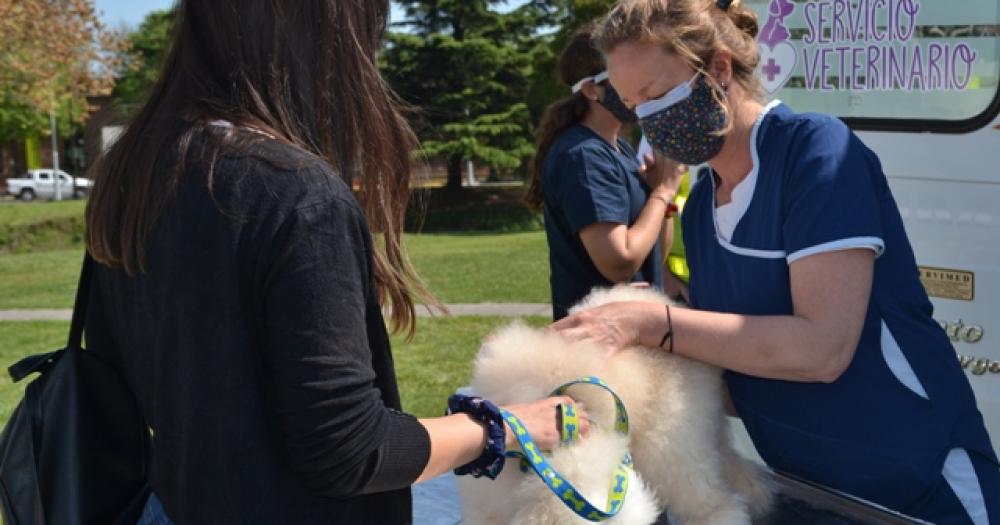
M 538 54 L 539 13 L 531 2 L 501 13 L 502 0 L 404 0 L 402 26 L 383 53 L 383 72 L 417 110 L 423 153 L 443 162 L 459 188 L 466 159 L 514 170 L 532 155 L 527 98 Z

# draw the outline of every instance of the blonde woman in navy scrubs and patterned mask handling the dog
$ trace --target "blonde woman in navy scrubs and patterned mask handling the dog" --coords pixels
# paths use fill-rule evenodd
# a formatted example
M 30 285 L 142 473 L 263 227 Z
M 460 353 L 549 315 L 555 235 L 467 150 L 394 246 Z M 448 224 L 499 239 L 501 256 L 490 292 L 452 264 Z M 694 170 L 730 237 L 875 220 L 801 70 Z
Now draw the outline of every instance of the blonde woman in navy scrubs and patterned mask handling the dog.
M 756 34 L 731 0 L 622 0 L 604 22 L 611 81 L 654 148 L 712 169 L 683 217 L 694 308 L 618 303 L 554 328 L 726 369 L 777 470 L 1000 524 L 997 457 L 879 159 L 835 118 L 760 102 Z

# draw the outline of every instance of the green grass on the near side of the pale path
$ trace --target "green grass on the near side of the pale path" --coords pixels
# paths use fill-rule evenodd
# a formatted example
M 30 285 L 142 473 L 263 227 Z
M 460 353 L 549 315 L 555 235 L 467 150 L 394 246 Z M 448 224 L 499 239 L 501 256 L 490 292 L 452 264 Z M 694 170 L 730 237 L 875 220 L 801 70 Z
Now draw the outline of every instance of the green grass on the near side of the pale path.
M 544 325 L 545 318 L 531 318 Z M 421 319 L 417 335 L 406 343 L 393 337 L 396 374 L 403 407 L 418 417 L 441 415 L 448 396 L 468 382 L 472 358 L 489 332 L 510 322 L 496 317 Z M 67 323 L 0 323 L 0 367 L 6 370 L 22 357 L 52 351 L 66 343 Z M 20 400 L 24 385 L 0 377 L 0 425 Z

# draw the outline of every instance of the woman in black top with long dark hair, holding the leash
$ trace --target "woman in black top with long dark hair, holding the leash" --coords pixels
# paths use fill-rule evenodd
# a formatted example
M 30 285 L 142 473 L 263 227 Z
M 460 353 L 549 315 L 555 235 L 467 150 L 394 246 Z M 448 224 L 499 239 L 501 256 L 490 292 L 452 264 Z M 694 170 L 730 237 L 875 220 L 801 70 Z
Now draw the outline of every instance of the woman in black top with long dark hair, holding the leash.
M 431 298 L 401 242 L 416 144 L 377 68 L 388 12 L 182 0 L 95 169 L 87 343 L 153 433 L 144 520 L 409 523 L 410 484 L 495 474 L 513 444 L 486 403 L 400 412 L 382 309 L 412 334 Z M 569 402 L 509 409 L 550 447 Z

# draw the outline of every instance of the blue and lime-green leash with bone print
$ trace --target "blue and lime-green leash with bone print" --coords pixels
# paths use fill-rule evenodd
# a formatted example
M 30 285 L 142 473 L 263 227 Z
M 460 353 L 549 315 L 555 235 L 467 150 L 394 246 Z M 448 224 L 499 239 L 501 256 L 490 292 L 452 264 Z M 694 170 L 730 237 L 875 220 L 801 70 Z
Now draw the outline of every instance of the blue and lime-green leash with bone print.
M 569 387 L 573 385 L 593 385 L 606 390 L 615 400 L 615 430 L 623 435 L 628 435 L 628 412 L 625 404 L 618 394 L 603 380 L 597 377 L 584 377 L 575 381 L 570 381 L 555 389 L 551 395 L 565 395 Z M 560 405 L 562 408 L 562 428 L 560 429 L 561 442 L 563 445 L 576 443 L 580 439 L 580 415 L 572 405 Z M 573 485 L 567 481 L 559 472 L 552 468 L 545 456 L 541 454 L 535 441 L 524 428 L 514 414 L 500 409 L 500 415 L 514 430 L 517 441 L 521 444 L 521 452 L 508 452 L 507 456 L 521 460 L 521 470 L 527 471 L 531 468 L 538 474 L 538 477 L 548 485 L 549 489 L 559 497 L 559 499 L 581 518 L 600 522 L 613 518 L 621 511 L 625 503 L 625 494 L 628 492 L 628 471 L 633 468 L 632 457 L 626 453 L 621 463 L 615 467 L 614 475 L 611 477 L 611 490 L 608 491 L 608 503 L 605 510 L 595 507 L 587 498 L 583 497 Z

